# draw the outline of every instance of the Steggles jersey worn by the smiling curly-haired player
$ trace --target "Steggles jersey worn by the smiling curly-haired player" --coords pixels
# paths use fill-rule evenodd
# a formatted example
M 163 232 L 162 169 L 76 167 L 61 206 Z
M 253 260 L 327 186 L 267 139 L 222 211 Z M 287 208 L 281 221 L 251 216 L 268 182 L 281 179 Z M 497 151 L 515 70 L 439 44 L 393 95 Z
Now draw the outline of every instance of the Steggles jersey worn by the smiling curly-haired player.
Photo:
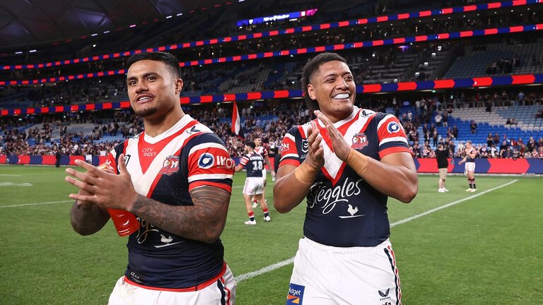
M 325 126 L 315 119 L 323 138 L 325 166 L 306 196 L 303 234 L 320 244 L 338 247 L 376 246 L 390 237 L 387 196 L 373 189 L 351 167 L 339 160 Z M 346 119 L 334 123 L 351 147 L 381 160 L 395 152 L 409 153 L 404 128 L 392 114 L 354 107 Z M 307 157 L 310 124 L 294 126 L 281 145 L 279 167 L 298 167 Z M 375 173 L 380 174 L 380 173 Z

